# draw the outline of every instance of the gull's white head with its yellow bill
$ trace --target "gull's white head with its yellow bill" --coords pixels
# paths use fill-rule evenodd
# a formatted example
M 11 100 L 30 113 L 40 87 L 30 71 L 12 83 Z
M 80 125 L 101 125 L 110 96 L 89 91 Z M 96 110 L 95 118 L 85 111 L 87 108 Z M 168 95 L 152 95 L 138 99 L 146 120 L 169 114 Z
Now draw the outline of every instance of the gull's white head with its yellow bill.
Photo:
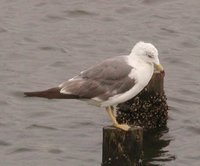
M 158 58 L 158 50 L 153 44 L 140 41 L 133 47 L 131 55 L 137 56 L 147 63 L 154 64 L 159 71 L 163 71 Z

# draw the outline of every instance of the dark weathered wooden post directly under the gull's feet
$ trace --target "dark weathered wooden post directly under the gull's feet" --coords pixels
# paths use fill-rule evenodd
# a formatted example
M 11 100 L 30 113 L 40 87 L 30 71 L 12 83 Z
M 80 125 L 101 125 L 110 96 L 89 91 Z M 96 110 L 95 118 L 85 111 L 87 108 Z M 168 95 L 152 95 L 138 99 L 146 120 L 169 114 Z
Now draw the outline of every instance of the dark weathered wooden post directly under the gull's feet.
M 129 131 L 116 127 L 103 128 L 102 166 L 140 166 L 143 129 L 138 126 Z

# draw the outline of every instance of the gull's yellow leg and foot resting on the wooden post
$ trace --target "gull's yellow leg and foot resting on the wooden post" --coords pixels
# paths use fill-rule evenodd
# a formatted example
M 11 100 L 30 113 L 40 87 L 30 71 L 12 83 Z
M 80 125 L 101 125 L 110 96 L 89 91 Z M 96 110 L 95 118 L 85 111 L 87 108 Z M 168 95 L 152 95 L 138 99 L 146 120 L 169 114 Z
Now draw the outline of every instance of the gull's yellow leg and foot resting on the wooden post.
M 106 107 L 106 111 L 108 112 L 108 115 L 110 116 L 110 118 L 112 119 L 112 122 L 114 124 L 115 127 L 120 128 L 122 130 L 128 131 L 130 129 L 130 126 L 128 126 L 127 124 L 119 124 L 116 120 L 116 117 L 114 115 L 114 110 L 111 106 Z

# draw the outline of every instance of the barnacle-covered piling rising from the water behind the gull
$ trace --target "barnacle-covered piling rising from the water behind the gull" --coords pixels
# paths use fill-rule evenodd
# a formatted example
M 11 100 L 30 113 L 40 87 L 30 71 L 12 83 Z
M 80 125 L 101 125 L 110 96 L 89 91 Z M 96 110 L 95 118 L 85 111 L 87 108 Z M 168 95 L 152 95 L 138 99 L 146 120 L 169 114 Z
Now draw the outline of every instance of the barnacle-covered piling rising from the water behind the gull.
M 164 73 L 154 73 L 143 91 L 117 107 L 117 121 L 141 126 L 144 130 L 166 127 L 167 98 L 163 88 Z

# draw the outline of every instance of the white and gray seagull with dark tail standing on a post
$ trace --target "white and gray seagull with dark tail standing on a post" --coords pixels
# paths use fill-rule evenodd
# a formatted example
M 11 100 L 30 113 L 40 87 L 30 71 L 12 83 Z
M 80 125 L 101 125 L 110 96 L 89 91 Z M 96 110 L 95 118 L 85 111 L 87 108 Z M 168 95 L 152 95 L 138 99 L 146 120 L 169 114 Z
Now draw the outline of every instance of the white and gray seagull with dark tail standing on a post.
M 155 70 L 164 71 L 158 58 L 158 50 L 153 44 L 140 41 L 135 44 L 129 55 L 106 59 L 56 87 L 44 91 L 24 92 L 24 95 L 87 101 L 89 104 L 104 107 L 113 125 L 128 131 L 129 125 L 117 122 L 115 108 L 141 92 Z

